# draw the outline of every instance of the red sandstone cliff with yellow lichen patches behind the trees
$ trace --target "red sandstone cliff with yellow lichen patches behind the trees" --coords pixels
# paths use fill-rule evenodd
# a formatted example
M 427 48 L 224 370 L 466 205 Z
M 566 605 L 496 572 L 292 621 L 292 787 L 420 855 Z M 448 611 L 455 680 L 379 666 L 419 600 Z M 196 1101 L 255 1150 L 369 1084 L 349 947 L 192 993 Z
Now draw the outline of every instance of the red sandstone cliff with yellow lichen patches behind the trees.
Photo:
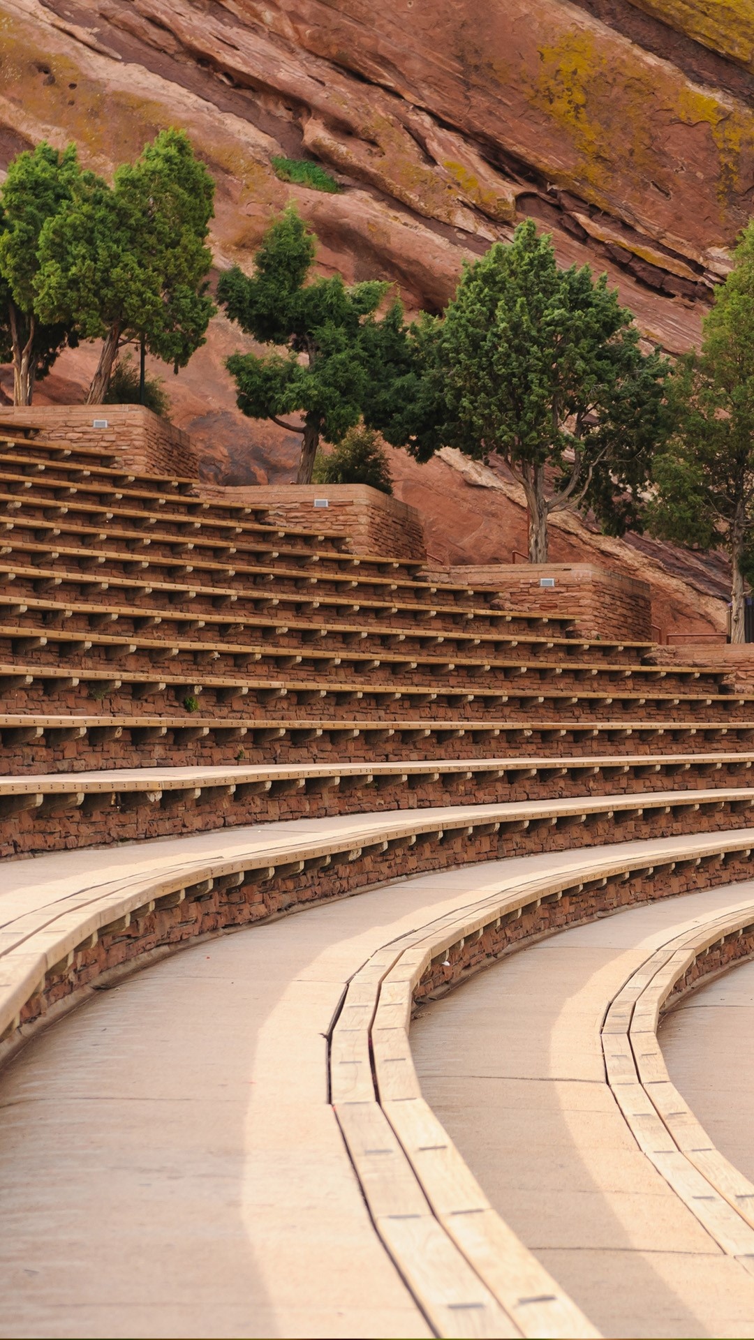
M 741 9 L 733 0 L 0 0 L 0 166 L 47 137 L 74 138 L 109 172 L 160 127 L 184 126 L 217 180 L 220 267 L 248 264 L 270 214 L 294 198 L 325 271 L 393 280 L 411 308 L 440 307 L 464 257 L 533 216 L 562 264 L 606 269 L 647 336 L 678 352 L 698 340 L 750 209 L 754 72 Z M 283 184 L 270 162 L 279 153 L 322 161 L 342 193 Z M 213 323 L 207 348 L 168 378 L 174 419 L 209 476 L 284 480 L 298 440 L 244 421 L 223 370 L 243 343 Z M 78 397 L 90 362 L 91 350 L 67 354 L 40 398 Z M 398 496 L 421 496 L 433 535 L 448 489 L 486 494 L 488 520 L 456 541 L 456 561 L 484 561 L 490 545 L 523 549 L 522 536 L 508 545 L 521 517 L 504 489 L 472 485 L 447 462 L 420 470 L 400 456 L 394 469 Z M 554 557 L 592 548 L 604 561 L 614 541 L 563 520 Z M 704 599 L 723 590 L 719 564 L 647 541 L 624 548 L 612 556 L 629 568 L 631 551 L 659 571 L 675 565 L 679 579 L 684 568 Z M 687 604 L 694 612 L 692 596 Z M 706 607 L 695 612 L 707 618 Z

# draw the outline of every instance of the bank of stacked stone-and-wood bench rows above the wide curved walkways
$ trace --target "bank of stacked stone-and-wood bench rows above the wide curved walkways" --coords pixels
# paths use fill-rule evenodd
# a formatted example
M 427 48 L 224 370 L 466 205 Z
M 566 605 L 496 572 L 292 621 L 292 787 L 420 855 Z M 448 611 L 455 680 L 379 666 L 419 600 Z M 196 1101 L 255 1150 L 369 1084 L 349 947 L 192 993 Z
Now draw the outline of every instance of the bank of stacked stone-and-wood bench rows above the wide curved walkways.
M 499 604 L 115 453 L 8 437 L 1 850 L 580 795 L 612 815 L 679 785 L 731 793 L 715 823 L 747 809 L 751 695 Z M 692 804 L 674 815 L 703 828 Z

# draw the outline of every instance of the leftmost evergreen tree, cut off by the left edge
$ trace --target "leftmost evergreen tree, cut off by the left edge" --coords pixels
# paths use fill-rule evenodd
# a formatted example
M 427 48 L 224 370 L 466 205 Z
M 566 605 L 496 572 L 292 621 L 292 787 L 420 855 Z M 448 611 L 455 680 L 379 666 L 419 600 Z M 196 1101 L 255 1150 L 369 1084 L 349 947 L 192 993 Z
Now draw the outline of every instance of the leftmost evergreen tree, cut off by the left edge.
M 40 320 L 35 308 L 39 237 L 71 200 L 80 180 L 74 145 L 63 153 L 42 142 L 17 154 L 0 193 L 0 359 L 13 364 L 13 403 L 31 405 L 35 382 L 46 377 L 66 343 L 75 343 L 70 320 Z

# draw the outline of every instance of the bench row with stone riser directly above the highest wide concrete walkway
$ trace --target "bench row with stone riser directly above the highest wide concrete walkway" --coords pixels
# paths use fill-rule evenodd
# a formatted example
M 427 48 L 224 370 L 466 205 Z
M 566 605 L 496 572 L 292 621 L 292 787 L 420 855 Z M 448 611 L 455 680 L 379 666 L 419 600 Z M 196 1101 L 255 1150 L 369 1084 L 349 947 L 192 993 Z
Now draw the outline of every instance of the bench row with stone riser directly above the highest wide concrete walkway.
M 440 760 L 335 764 L 235 764 L 232 768 L 117 768 L 0 777 L 0 854 L 28 855 L 114 839 L 236 827 L 255 820 L 318 817 L 364 809 L 417 811 L 427 807 L 547 803 L 559 823 L 559 803 L 636 792 L 632 821 L 652 808 L 652 795 L 683 780 L 660 803 L 672 816 L 746 815 L 753 793 L 741 787 L 754 754 L 668 754 L 601 758 Z M 699 791 L 692 789 L 700 788 Z M 712 789 L 711 789 L 712 788 Z M 723 808 L 719 808 L 719 804 Z M 610 800 L 605 803 L 610 812 Z M 620 804 L 618 804 L 620 811 Z M 614 807 L 613 807 L 614 813 Z M 531 816 L 525 816 L 531 823 Z M 589 821 L 589 815 L 586 817 Z M 620 813 L 617 820 L 620 823 Z M 674 823 L 674 819 L 671 819 Z M 557 827 L 557 825 L 555 825 Z

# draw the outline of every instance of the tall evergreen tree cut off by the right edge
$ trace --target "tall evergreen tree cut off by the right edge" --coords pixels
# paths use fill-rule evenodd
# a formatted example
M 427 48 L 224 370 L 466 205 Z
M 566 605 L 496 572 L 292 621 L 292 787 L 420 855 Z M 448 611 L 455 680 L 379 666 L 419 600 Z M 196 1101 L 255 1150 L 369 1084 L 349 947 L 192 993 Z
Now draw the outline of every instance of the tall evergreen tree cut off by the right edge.
M 727 549 L 731 642 L 745 642 L 746 579 L 754 576 L 754 222 L 703 323 L 700 354 L 674 378 L 678 429 L 655 464 L 648 524 L 695 548 Z

